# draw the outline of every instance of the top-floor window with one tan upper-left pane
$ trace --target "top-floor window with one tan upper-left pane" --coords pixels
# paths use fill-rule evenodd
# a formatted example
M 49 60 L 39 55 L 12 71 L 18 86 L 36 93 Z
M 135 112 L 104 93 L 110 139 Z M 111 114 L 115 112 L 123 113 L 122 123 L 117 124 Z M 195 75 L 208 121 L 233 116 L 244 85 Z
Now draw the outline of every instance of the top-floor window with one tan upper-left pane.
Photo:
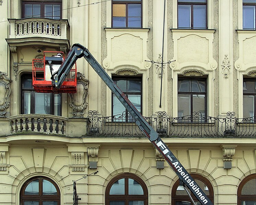
M 112 0 L 112 27 L 141 28 L 142 0 Z

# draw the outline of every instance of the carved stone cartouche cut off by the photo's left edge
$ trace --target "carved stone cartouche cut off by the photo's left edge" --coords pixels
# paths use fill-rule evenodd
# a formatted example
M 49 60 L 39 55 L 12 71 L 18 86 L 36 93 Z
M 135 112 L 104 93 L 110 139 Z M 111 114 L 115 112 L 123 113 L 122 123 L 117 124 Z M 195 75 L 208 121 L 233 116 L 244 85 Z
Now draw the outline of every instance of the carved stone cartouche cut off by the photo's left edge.
M 6 117 L 6 110 L 10 106 L 10 82 L 10 78 L 7 78 L 7 75 L 0 72 L 0 117 Z

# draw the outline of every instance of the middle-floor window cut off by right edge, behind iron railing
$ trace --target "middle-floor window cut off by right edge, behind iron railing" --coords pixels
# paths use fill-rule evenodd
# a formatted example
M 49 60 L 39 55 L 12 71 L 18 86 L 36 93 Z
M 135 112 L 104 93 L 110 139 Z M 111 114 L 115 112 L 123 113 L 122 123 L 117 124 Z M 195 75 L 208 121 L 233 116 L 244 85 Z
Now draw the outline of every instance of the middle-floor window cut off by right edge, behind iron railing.
M 243 81 L 243 117 L 254 117 L 256 103 L 256 79 Z

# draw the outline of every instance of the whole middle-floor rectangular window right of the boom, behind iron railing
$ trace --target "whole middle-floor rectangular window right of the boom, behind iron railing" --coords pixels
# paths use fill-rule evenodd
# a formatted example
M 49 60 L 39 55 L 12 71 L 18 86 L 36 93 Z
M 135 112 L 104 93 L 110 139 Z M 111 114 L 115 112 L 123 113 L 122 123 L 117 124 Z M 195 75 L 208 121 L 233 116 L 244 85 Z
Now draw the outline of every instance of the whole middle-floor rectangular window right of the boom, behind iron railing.
M 178 117 L 193 116 L 193 112 L 206 115 L 206 90 L 206 79 L 179 78 Z

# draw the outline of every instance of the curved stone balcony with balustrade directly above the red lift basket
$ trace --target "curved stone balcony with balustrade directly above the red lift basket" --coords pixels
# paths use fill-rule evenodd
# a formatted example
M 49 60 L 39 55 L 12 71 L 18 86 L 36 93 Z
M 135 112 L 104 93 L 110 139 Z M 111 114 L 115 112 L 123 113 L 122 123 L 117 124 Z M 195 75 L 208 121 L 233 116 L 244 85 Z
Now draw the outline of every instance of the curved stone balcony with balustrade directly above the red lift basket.
M 8 19 L 10 36 L 6 39 L 10 47 L 42 44 L 69 50 L 68 20 L 49 18 Z

